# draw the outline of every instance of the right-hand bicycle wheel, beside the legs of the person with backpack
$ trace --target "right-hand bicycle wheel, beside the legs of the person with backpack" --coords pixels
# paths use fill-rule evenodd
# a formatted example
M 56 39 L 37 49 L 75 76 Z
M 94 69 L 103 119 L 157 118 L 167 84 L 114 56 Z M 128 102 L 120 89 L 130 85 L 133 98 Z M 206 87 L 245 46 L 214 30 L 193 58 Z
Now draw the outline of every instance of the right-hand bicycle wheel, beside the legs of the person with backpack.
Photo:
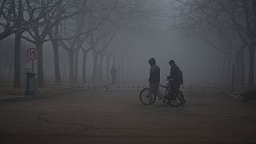
M 182 95 L 178 91 L 173 91 L 170 93 L 168 98 L 168 104 L 170 106 L 181 106 L 183 102 Z

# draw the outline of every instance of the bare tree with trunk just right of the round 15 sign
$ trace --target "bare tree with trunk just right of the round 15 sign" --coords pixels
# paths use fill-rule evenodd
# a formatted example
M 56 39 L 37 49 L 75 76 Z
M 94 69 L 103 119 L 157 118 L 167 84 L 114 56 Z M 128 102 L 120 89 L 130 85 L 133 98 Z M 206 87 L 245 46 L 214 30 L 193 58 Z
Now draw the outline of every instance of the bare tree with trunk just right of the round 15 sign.
M 86 5 L 86 2 L 82 3 L 77 10 L 74 10 L 76 6 L 76 1 L 40 1 L 37 2 L 36 5 L 45 7 L 49 9 L 51 7 L 54 8 L 52 13 L 46 14 L 43 17 L 43 25 L 34 26 L 30 30 L 26 30 L 27 34 L 30 37 L 22 36 L 22 38 L 26 39 L 29 42 L 34 43 L 34 45 L 38 48 L 38 86 L 44 86 L 44 77 L 43 77 L 43 63 L 42 63 L 42 46 L 44 42 L 49 41 L 50 39 L 46 39 L 50 30 L 53 29 L 54 26 L 58 25 L 64 19 L 71 18 L 74 15 L 78 14 L 80 10 Z M 32 11 L 32 10 L 30 10 Z M 39 21 L 38 21 L 39 22 Z

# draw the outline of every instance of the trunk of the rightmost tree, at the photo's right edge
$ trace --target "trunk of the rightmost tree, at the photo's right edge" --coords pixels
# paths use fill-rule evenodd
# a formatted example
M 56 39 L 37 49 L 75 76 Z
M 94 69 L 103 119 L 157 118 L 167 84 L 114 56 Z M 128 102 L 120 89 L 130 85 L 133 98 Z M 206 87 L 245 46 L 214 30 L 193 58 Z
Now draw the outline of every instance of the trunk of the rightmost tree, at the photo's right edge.
M 249 86 L 254 86 L 254 46 L 250 46 L 249 48 L 250 52 L 250 62 L 249 62 L 249 79 L 248 79 L 248 85 Z

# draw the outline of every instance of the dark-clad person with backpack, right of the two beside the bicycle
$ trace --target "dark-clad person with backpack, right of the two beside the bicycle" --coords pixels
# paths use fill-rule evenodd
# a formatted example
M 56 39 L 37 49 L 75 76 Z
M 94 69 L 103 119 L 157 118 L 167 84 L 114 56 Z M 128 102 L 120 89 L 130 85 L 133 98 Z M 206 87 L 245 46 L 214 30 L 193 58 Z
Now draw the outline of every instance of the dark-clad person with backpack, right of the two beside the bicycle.
M 167 78 L 172 79 L 170 81 L 170 88 L 172 90 L 179 90 L 180 86 L 183 84 L 183 76 L 182 76 L 182 70 L 179 69 L 179 67 L 176 65 L 175 61 L 172 59 L 169 61 L 170 65 L 170 76 Z M 184 98 L 184 95 L 182 94 L 183 102 L 185 103 L 186 100 Z

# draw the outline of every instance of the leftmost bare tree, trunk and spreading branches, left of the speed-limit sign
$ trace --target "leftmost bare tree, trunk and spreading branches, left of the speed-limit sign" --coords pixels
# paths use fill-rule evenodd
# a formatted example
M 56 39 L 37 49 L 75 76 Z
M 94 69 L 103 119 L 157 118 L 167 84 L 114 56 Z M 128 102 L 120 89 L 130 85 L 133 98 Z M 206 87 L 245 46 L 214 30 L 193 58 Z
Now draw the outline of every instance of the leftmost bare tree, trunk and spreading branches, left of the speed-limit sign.
M 45 10 L 42 6 L 34 5 L 32 0 L 2 1 L 1 18 L 3 32 L 0 39 L 10 34 L 15 34 L 14 49 L 14 88 L 20 88 L 20 46 L 21 36 L 25 30 L 42 24 L 42 19 L 48 14 L 53 6 Z

